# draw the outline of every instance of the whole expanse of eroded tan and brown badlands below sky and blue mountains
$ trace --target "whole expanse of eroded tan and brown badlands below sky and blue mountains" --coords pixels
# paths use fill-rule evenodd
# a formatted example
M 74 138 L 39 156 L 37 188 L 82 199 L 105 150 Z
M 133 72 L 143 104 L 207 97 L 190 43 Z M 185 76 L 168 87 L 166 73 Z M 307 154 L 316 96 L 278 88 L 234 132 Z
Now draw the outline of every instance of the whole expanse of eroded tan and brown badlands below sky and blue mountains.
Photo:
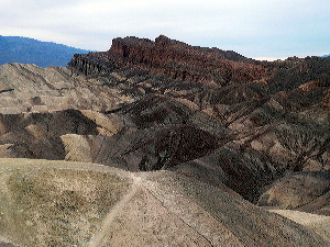
M 330 246 L 330 57 L 114 38 L 0 105 L 0 246 Z

